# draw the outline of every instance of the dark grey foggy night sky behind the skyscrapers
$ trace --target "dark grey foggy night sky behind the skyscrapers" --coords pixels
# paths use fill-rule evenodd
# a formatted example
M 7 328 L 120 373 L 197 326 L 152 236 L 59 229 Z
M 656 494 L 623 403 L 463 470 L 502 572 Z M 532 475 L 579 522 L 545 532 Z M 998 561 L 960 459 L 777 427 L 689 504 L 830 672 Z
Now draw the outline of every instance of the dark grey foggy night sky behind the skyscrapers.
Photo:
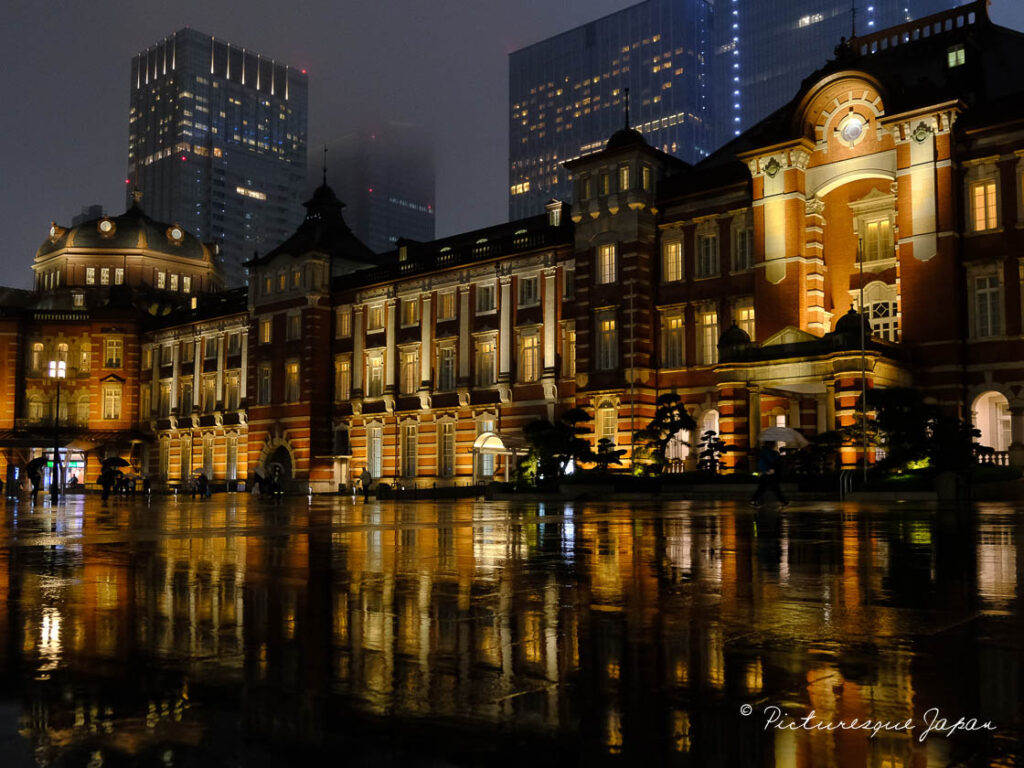
M 30 286 L 50 220 L 124 210 L 131 57 L 182 27 L 306 68 L 310 147 L 375 120 L 432 130 L 441 237 L 507 218 L 508 53 L 634 2 L 7 0 L 0 285 Z M 1020 0 L 991 14 L 1024 29 Z

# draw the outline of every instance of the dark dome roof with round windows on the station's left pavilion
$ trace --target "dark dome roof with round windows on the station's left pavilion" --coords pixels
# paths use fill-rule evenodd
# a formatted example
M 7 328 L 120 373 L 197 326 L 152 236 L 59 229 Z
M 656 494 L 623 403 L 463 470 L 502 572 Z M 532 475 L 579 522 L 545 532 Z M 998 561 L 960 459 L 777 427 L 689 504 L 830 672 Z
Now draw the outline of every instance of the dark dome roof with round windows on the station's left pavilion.
M 206 250 L 198 238 L 178 224 L 155 221 L 145 215 L 138 203 L 120 216 L 100 216 L 70 228 L 54 223 L 49 237 L 39 247 L 36 258 L 67 248 L 110 251 L 144 249 L 198 261 L 206 257 Z

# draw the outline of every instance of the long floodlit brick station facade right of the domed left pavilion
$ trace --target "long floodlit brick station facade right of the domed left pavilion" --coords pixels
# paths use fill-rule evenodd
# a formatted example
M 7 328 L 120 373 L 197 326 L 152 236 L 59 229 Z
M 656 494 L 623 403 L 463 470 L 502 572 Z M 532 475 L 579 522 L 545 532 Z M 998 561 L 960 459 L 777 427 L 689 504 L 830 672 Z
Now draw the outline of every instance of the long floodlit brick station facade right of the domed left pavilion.
M 570 408 L 632 461 L 675 392 L 699 425 L 673 439 L 680 467 L 711 429 L 745 469 L 765 427 L 852 425 L 862 382 L 918 387 L 1024 464 L 1024 101 L 1000 69 L 1022 53 L 981 2 L 863 35 L 696 166 L 620 129 L 567 164 L 571 206 L 383 255 L 323 185 L 249 262 L 247 294 L 151 311 L 132 337 L 118 376 L 138 391 L 142 468 L 169 485 L 271 465 L 302 490 L 364 469 L 476 485 L 510 474 L 525 424 Z M 37 302 L 67 291 L 47 248 Z M 23 418 L 31 334 L 8 333 L 2 413 Z

